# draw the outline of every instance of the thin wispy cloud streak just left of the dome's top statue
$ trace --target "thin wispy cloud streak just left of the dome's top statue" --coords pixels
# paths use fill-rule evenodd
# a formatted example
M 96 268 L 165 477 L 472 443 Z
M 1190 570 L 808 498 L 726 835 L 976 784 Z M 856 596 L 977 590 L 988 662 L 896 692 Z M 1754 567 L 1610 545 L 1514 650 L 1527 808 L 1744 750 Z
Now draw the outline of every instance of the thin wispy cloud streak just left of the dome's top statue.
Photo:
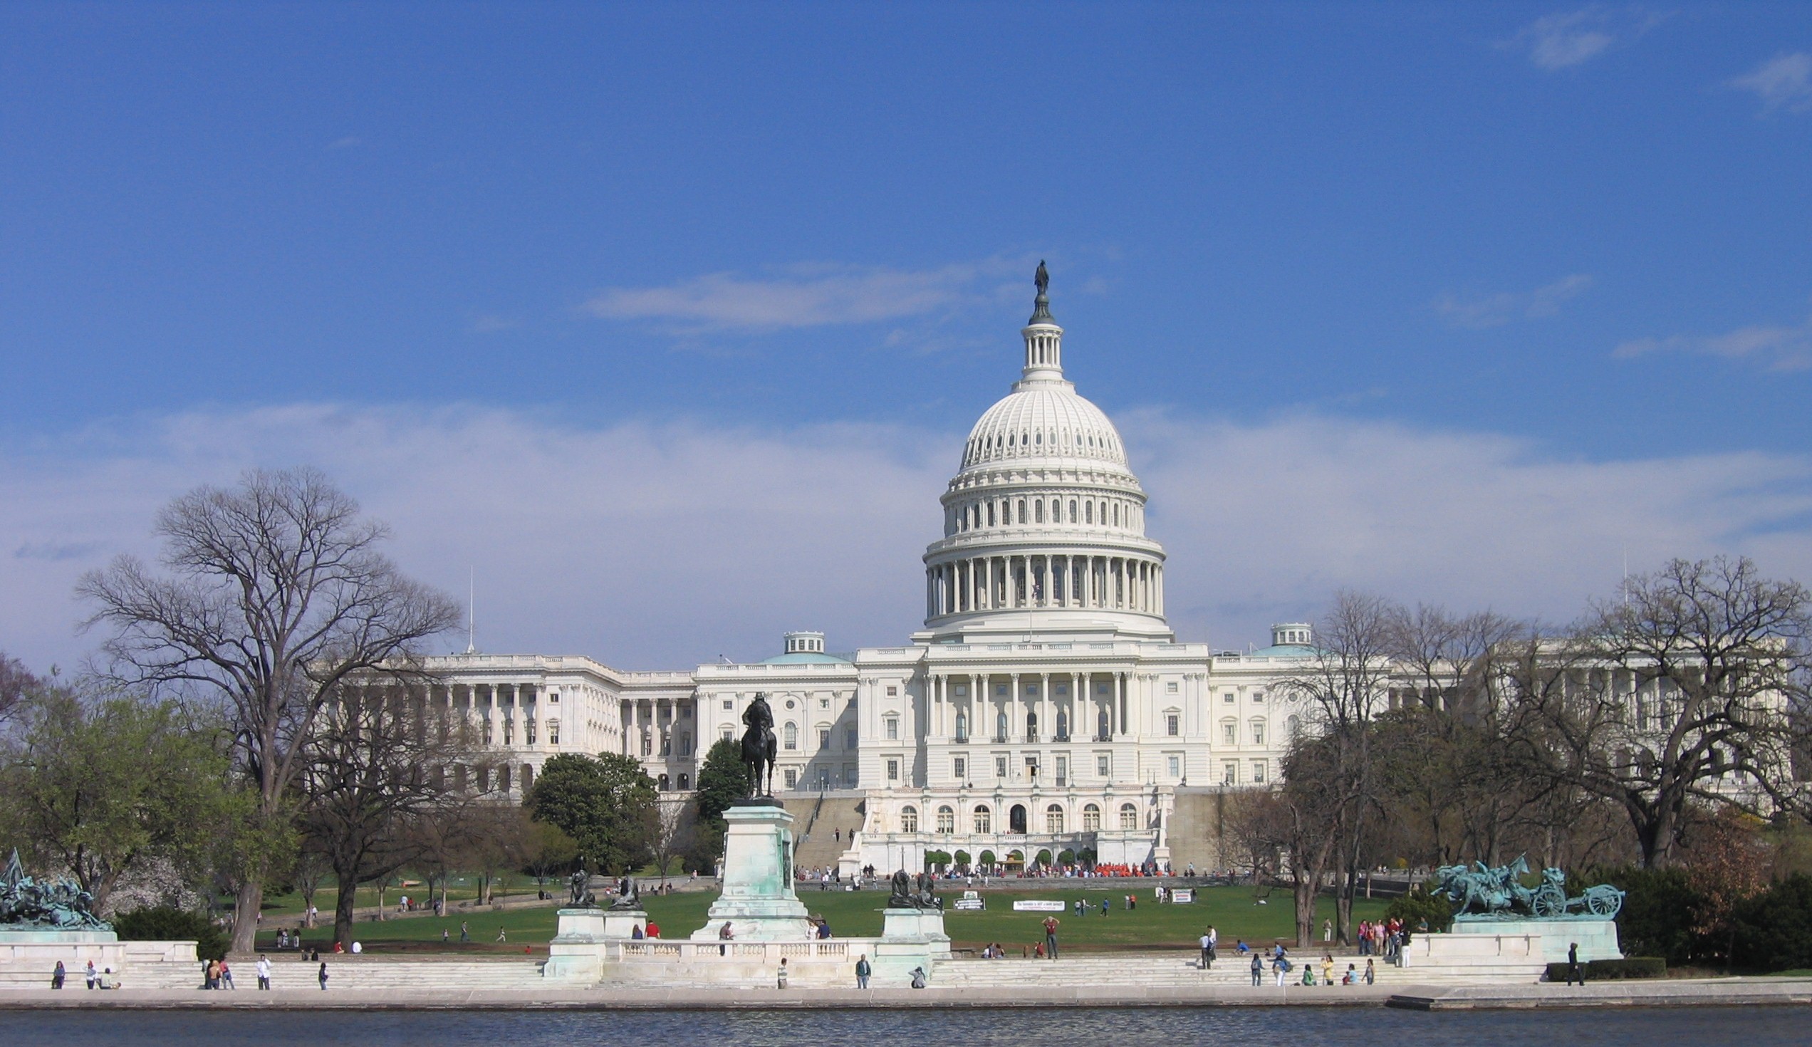
M 772 275 L 708 274 L 667 286 L 605 288 L 585 303 L 585 312 L 685 331 L 868 324 L 995 301 L 1018 286 L 1006 283 L 1015 275 L 1029 286 L 1031 263 L 995 257 L 930 270 L 801 264 Z

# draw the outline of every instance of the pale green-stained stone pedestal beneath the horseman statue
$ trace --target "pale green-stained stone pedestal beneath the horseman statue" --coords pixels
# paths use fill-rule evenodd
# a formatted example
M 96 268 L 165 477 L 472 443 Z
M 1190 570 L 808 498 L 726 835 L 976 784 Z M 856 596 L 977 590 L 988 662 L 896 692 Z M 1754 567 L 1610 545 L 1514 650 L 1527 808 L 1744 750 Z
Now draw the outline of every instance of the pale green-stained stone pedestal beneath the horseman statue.
M 814 926 L 792 882 L 792 815 L 781 806 L 734 806 L 723 821 L 723 895 L 692 940 L 718 940 L 727 922 L 737 942 L 810 940 Z

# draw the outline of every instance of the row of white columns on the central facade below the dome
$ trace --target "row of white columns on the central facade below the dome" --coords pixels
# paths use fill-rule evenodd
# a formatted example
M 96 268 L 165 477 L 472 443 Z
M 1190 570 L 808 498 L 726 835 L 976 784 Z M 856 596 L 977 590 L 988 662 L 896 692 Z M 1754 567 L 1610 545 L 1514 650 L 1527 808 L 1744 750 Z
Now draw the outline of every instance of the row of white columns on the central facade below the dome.
M 1013 672 L 1006 674 L 1011 679 L 1007 688 L 1007 701 L 1000 703 L 991 694 L 993 674 L 931 674 L 930 677 L 930 714 L 931 723 L 926 732 L 933 739 L 944 741 L 955 737 L 957 714 L 968 712 L 969 717 L 988 716 L 988 723 L 977 725 L 973 719 L 968 723 L 968 737 L 997 739 L 995 734 L 997 719 L 1000 712 L 1007 716 L 1007 741 L 1015 743 L 1040 743 L 1056 741 L 1056 696 L 1051 692 L 1051 677 L 1069 679 L 1069 741 L 1075 739 L 1093 739 L 1098 728 L 1098 712 L 1107 712 L 1107 735 L 1122 735 L 1127 732 L 1127 694 L 1129 672 L 1111 674 L 1113 688 L 1105 703 L 1094 701 L 1089 694 L 1093 683 L 1100 674 L 1091 672 Z M 1036 679 L 1038 694 L 1035 697 L 1026 696 L 1026 679 Z M 968 685 L 968 701 L 959 699 L 953 687 L 955 683 Z M 1033 737 L 1026 735 L 1026 716 L 1033 714 L 1038 717 L 1038 730 Z M 1087 716 L 1089 723 L 1078 723 L 1078 716 Z

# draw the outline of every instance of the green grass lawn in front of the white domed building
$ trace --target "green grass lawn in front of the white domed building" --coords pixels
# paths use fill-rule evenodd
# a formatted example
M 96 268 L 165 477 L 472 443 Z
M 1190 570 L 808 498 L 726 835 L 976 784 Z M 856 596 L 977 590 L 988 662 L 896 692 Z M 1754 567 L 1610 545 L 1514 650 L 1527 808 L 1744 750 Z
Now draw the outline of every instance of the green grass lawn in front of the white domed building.
M 1127 911 L 1125 895 L 1138 895 L 1138 908 Z M 946 891 L 949 900 L 960 897 L 960 889 Z M 1000 942 L 1009 949 L 1031 946 L 1044 938 L 1042 924 L 1049 913 L 1017 913 L 1015 898 L 1062 898 L 1065 913 L 1056 913 L 1062 920 L 1060 940 L 1073 949 L 1192 949 L 1196 938 L 1214 924 L 1223 947 L 1232 947 L 1238 938 L 1247 942 L 1272 942 L 1274 938 L 1296 937 L 1296 906 L 1285 893 L 1274 893 L 1270 904 L 1258 906 L 1250 888 L 1205 888 L 1196 893 L 1196 902 L 1187 906 L 1160 906 L 1151 898 L 1151 888 L 1118 886 L 1107 889 L 1042 889 L 1015 891 L 989 889 L 984 911 L 959 911 L 946 908 L 944 929 L 955 947 L 982 947 L 988 942 Z M 1104 918 L 1100 915 L 1102 898 L 1113 898 L 1113 909 Z M 1076 898 L 1091 904 L 1087 917 L 1075 915 Z M 674 895 L 643 895 L 643 908 L 649 918 L 660 924 L 663 938 L 685 938 L 694 929 L 705 926 L 705 909 L 716 900 L 716 893 L 687 891 Z M 839 937 L 877 937 L 881 935 L 881 909 L 886 904 L 884 891 L 799 891 L 799 900 L 815 917 L 824 917 Z M 317 902 L 319 904 L 319 902 Z M 946 902 L 949 906 L 949 902 Z M 1379 918 L 1386 902 L 1359 898 L 1354 904 L 1354 918 Z M 1321 898 L 1316 908 L 1316 926 L 1334 915 L 1334 900 Z M 471 926 L 471 942 L 458 944 L 458 926 L 466 920 Z M 524 946 L 544 951 L 554 935 L 556 906 L 525 908 L 511 911 L 477 909 L 453 913 L 448 918 L 411 917 L 400 920 L 370 922 L 355 926 L 353 937 L 368 947 L 381 951 L 431 949 L 440 951 L 440 931 L 448 929 L 453 938 L 449 951 L 466 953 L 522 953 Z M 504 927 L 507 942 L 496 944 L 496 931 Z M 310 944 L 326 944 L 332 927 L 319 927 L 310 933 Z M 275 927 L 259 935 L 259 944 L 268 947 L 275 940 Z

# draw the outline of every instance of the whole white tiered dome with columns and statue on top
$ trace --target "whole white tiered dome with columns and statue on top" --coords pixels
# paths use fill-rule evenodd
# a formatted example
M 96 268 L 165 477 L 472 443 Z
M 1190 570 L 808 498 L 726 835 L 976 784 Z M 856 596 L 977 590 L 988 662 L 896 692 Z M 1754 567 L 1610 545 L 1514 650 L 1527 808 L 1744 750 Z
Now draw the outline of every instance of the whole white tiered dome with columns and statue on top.
M 933 639 L 1073 634 L 1171 639 L 1163 547 L 1120 431 L 1064 379 L 1046 270 L 1020 331 L 1020 380 L 982 413 L 924 554 Z

